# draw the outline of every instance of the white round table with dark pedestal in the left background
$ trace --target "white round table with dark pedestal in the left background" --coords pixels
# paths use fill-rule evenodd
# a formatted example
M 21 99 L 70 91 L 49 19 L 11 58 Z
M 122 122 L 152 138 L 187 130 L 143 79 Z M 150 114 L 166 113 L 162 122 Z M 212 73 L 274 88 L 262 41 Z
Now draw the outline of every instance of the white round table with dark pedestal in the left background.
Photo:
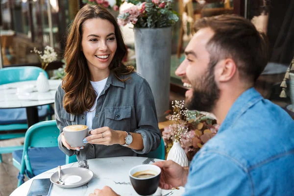
M 39 93 L 36 89 L 36 80 L 13 82 L 0 85 L 0 108 L 26 108 L 28 127 L 38 123 L 38 109 L 36 106 L 54 103 L 55 93 L 61 80 L 49 79 L 49 92 Z M 17 94 L 17 88 L 23 85 L 35 85 L 31 93 Z

